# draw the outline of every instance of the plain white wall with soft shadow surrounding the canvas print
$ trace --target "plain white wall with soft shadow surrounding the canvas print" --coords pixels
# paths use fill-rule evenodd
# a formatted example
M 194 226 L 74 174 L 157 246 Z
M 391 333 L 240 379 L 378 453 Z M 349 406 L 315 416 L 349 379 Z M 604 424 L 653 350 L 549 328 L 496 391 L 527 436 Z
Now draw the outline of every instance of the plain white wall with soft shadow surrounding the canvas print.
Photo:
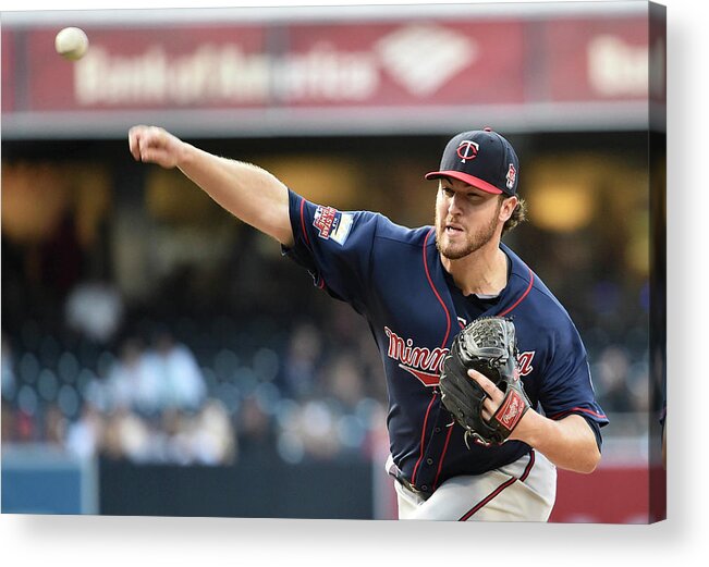
M 188 2 L 145 0 L 140 7 Z M 290 2 L 278 2 L 289 4 Z M 310 4 L 318 2 L 311 1 Z M 334 1 L 328 2 L 337 3 Z M 395 3 L 395 2 L 390 2 Z M 669 515 L 646 526 L 418 525 L 320 520 L 0 517 L 0 562 L 24 566 L 443 566 L 656 567 L 700 565 L 707 530 L 704 211 L 709 53 L 696 0 L 667 0 L 669 21 L 668 273 Z M 2 2 L 7 10 L 10 2 Z M 15 2 L 13 4 L 17 5 Z M 134 0 L 107 4 L 132 7 Z M 211 5 L 237 2 L 211 1 Z M 22 9 L 51 9 L 25 0 Z M 72 9 L 96 3 L 63 2 Z M 693 398 L 690 402 L 689 398 Z M 296 497 L 296 496 L 294 496 Z M 602 497 L 602 495 L 598 495 Z M 701 559 L 705 557 L 705 559 Z

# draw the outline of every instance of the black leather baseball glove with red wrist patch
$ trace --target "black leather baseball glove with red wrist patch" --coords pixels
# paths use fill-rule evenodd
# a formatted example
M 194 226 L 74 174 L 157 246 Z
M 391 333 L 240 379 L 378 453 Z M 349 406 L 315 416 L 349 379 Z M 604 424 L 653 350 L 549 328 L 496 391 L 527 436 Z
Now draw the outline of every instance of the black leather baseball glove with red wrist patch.
M 472 436 L 486 446 L 506 440 L 531 405 L 524 392 L 517 368 L 514 324 L 510 319 L 476 319 L 453 340 L 440 375 L 441 400 L 465 430 L 465 444 Z M 505 396 L 490 418 L 482 417 L 488 395 L 468 374 L 468 369 L 485 374 Z

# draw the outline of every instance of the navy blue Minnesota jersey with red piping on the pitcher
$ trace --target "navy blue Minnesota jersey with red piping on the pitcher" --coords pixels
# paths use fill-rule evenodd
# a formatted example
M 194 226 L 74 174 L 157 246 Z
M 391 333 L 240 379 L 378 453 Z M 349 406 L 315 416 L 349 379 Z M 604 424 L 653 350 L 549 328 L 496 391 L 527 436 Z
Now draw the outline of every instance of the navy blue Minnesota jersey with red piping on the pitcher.
M 529 451 L 519 441 L 468 448 L 437 387 L 455 334 L 480 316 L 512 318 L 519 372 L 533 407 L 551 419 L 584 416 L 599 436 L 608 420 L 595 400 L 580 336 L 565 309 L 505 245 L 509 281 L 492 299 L 465 297 L 443 269 L 432 226 L 407 229 L 379 213 L 341 212 L 289 194 L 295 244 L 284 254 L 315 284 L 364 316 L 387 377 L 390 449 L 419 490 L 479 474 Z

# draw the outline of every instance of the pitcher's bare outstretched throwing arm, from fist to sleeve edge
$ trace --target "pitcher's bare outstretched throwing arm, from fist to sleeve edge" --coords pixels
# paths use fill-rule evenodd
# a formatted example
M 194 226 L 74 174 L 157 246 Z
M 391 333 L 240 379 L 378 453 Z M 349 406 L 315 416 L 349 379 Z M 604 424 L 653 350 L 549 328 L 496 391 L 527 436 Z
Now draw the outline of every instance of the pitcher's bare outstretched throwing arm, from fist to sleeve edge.
M 288 188 L 268 171 L 215 156 L 156 126 L 131 128 L 129 146 L 137 161 L 180 169 L 234 217 L 293 245 Z

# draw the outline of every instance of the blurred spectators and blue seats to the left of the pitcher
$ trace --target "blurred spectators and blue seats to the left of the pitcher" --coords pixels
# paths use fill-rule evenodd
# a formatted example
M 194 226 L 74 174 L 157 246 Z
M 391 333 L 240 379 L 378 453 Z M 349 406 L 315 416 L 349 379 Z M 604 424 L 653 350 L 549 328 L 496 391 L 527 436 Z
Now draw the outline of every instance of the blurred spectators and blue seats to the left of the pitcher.
M 83 282 L 58 332 L 29 320 L 3 334 L 2 442 L 137 464 L 368 458 L 384 439 L 384 385 L 350 311 L 260 335 L 225 316 L 125 321 L 115 289 Z

